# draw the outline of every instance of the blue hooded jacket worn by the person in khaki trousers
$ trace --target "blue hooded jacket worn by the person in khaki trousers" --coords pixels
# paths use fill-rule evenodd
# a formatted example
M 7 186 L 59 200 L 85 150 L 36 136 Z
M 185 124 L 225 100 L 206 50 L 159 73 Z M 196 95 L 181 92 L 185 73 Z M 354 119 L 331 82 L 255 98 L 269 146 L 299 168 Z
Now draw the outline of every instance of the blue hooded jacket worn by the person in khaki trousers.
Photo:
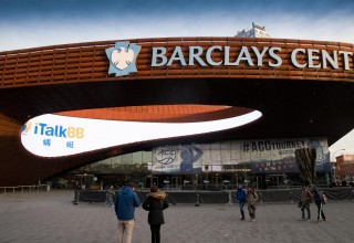
M 129 187 L 124 187 L 115 200 L 114 210 L 118 220 L 134 220 L 135 208 L 140 205 L 137 194 Z

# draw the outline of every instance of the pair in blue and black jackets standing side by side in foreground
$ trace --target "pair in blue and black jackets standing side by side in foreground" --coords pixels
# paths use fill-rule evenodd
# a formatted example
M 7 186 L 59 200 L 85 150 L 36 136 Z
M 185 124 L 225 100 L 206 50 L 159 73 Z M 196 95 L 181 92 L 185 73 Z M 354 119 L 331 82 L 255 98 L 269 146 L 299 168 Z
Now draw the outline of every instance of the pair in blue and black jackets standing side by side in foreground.
M 118 243 L 131 243 L 134 229 L 135 208 L 140 205 L 140 200 L 134 192 L 135 184 L 128 183 L 117 194 L 114 209 L 118 219 Z M 164 210 L 168 208 L 166 193 L 156 186 L 150 188 L 143 209 L 148 211 L 147 222 L 150 225 L 152 243 L 160 242 L 160 226 L 165 223 Z

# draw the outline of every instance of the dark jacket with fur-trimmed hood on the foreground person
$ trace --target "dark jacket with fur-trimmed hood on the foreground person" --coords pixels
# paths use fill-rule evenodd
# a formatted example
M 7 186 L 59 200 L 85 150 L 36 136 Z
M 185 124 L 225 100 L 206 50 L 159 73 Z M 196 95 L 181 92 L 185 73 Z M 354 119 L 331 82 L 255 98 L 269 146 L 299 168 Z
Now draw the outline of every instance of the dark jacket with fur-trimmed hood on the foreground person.
M 166 193 L 163 191 L 149 192 L 145 202 L 143 203 L 143 209 L 148 211 L 147 222 L 149 224 L 164 224 L 164 210 L 167 209 L 168 202 L 166 200 Z

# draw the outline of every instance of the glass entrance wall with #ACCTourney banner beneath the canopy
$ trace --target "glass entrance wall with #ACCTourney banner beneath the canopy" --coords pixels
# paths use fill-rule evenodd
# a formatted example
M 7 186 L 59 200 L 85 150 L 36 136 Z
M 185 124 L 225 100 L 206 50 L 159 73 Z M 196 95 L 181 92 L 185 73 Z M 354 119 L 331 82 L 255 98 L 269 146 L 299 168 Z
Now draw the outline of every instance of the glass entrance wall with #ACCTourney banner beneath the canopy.
M 72 173 L 95 175 L 103 188 L 108 187 L 105 178 L 112 176 L 119 184 L 129 180 L 142 188 L 156 183 L 175 190 L 236 189 L 240 182 L 257 188 L 291 187 L 301 182 L 294 155 L 298 148 L 316 148 L 320 177 L 331 171 L 326 139 L 292 138 L 167 145 L 112 157 Z

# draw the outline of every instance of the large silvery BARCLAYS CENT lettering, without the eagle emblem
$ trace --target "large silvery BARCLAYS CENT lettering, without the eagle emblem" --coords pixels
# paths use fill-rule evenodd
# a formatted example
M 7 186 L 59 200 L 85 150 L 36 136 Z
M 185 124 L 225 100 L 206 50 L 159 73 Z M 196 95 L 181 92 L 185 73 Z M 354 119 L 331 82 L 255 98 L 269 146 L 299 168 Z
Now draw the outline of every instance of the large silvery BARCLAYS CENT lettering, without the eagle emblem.
M 181 66 L 239 66 L 247 64 L 249 66 L 279 67 L 283 60 L 280 55 L 282 49 L 279 46 L 241 46 L 238 52 L 231 53 L 230 46 L 212 45 L 207 50 L 201 46 L 189 46 L 184 50 L 176 46 L 171 53 L 167 53 L 164 46 L 153 47 L 152 66 L 170 66 L 179 64 Z M 221 60 L 216 60 L 214 54 L 221 53 Z M 340 61 L 343 70 L 353 68 L 351 59 L 353 52 L 317 50 L 317 49 L 294 49 L 290 53 L 290 61 L 296 68 L 340 68 Z M 168 57 L 169 56 L 169 57 Z M 251 56 L 256 56 L 252 59 Z

